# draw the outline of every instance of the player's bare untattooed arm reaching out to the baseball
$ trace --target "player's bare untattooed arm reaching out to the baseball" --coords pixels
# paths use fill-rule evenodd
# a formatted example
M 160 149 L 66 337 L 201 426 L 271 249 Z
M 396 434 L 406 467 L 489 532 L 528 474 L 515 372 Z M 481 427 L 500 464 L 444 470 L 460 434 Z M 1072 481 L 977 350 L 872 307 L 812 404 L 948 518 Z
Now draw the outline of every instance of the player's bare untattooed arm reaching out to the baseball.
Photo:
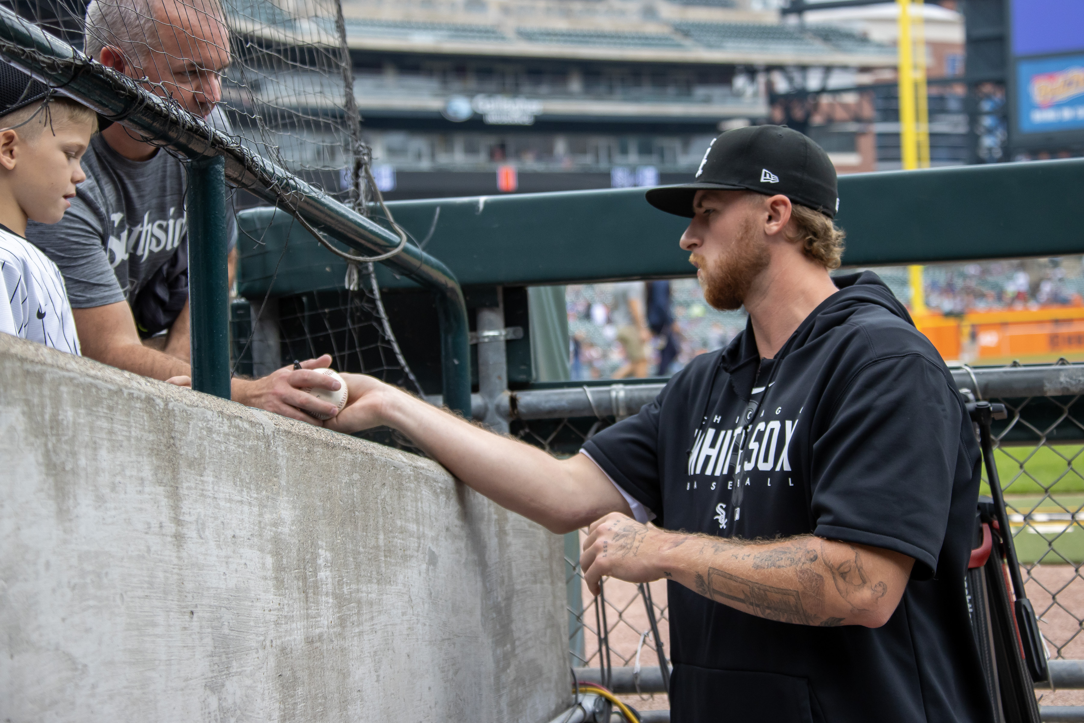
M 569 532 L 629 504 L 582 454 L 557 460 L 437 409 L 371 376 L 344 374 L 347 406 L 324 423 L 353 432 L 398 429 L 474 490 L 552 532 Z

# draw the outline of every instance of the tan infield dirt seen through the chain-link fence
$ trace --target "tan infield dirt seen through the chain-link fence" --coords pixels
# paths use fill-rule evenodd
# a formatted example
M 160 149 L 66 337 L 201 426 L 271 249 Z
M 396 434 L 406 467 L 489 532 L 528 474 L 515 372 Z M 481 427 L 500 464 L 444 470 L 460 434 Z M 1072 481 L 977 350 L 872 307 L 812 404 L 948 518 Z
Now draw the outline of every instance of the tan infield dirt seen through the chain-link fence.
M 1072 660 L 1084 659 L 1084 630 L 1077 618 L 1084 618 L 1084 579 L 1072 565 L 1037 565 L 1032 568 L 1027 582 L 1028 596 L 1040 616 L 1040 628 L 1047 638 L 1050 656 Z M 649 630 L 643 599 L 636 586 L 619 580 L 607 580 L 605 583 L 606 614 L 610 628 L 610 656 L 615 667 L 634 666 L 636 647 L 641 636 Z M 1057 595 L 1055 602 L 1054 595 Z M 662 580 L 651 583 L 651 596 L 656 607 L 663 610 L 659 619 L 659 634 L 669 658 L 670 625 L 666 617 L 667 585 Z M 591 593 L 583 589 L 583 601 L 591 601 Z M 590 627 L 594 629 L 594 614 L 589 615 Z M 593 634 L 588 634 L 585 653 L 589 667 L 598 666 L 598 642 Z M 1060 655 L 1059 655 L 1060 653 Z M 640 654 L 640 664 L 647 669 L 658 666 L 658 658 L 651 646 L 648 634 Z M 1084 706 L 1084 690 L 1050 690 L 1038 688 L 1035 694 L 1044 706 Z M 621 696 L 638 710 L 662 710 L 669 707 L 667 697 L 656 696 Z

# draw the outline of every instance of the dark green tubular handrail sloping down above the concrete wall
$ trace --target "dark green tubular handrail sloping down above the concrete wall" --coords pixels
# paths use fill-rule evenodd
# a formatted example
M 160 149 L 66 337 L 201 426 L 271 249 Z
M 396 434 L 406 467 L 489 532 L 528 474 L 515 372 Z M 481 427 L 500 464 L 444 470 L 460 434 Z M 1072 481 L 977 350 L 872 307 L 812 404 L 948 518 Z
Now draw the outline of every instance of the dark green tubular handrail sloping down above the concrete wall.
M 92 61 L 3 7 L 0 7 L 0 55 L 39 80 L 64 88 L 64 92 L 104 117 L 141 135 L 164 142 L 191 160 L 221 157 L 225 180 L 232 185 L 285 208 L 351 248 L 365 254 L 384 254 L 399 245 L 399 237 L 393 232 L 253 153 L 176 103 L 146 91 L 131 78 Z M 203 172 L 203 169 L 195 170 L 197 177 Z M 224 253 L 220 258 L 208 258 L 208 263 L 221 264 L 224 270 Z M 444 402 L 469 416 L 467 313 L 459 282 L 443 263 L 410 245 L 382 263 L 434 293 L 441 330 Z M 215 302 L 218 291 L 211 285 L 217 283 L 217 274 L 208 275 L 205 269 L 193 268 L 190 277 L 192 298 L 202 297 Z M 204 385 L 211 384 L 221 375 L 219 366 L 229 374 L 229 358 L 220 354 L 219 344 L 206 344 L 211 337 L 217 338 L 219 332 L 196 326 L 210 324 L 225 334 L 225 308 L 223 306 L 222 313 L 218 314 L 218 305 L 215 304 L 216 313 L 199 319 L 193 315 L 193 339 L 199 338 L 205 343 L 199 344 L 198 349 L 193 348 L 192 365 L 194 385 L 195 379 L 199 379 L 196 388 L 219 393 L 217 387 Z M 216 366 L 218 371 L 209 374 L 197 371 L 210 366 Z

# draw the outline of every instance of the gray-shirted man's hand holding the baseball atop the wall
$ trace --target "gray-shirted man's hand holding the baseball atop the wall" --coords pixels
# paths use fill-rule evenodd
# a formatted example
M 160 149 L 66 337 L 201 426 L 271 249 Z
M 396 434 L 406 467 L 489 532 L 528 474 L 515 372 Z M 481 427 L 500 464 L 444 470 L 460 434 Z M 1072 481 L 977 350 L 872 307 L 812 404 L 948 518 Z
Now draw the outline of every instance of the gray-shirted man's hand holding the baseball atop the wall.
M 308 422 L 319 427 L 321 426 L 320 419 L 311 416 L 308 412 L 332 415 L 335 414 L 337 408 L 330 402 L 317 399 L 302 389 L 306 387 L 322 387 L 332 391 L 338 389 L 337 380 L 310 371 L 326 369 L 331 366 L 331 356 L 324 354 L 319 359 L 301 362 L 301 369 L 295 370 L 293 365 L 283 366 L 261 379 L 234 379 L 233 400 L 293 419 Z

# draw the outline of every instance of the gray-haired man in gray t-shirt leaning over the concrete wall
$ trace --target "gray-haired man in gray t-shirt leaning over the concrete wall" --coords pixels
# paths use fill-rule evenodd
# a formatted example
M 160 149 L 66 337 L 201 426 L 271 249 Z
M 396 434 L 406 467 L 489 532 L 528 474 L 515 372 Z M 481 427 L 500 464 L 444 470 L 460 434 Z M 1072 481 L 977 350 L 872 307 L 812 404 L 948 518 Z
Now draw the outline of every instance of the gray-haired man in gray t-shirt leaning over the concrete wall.
M 92 0 L 86 24 L 88 55 L 218 122 L 211 116 L 231 59 L 216 0 Z M 64 219 L 27 230 L 64 275 L 82 353 L 156 379 L 189 377 L 184 168 L 118 124 L 103 128 L 82 162 L 87 182 Z M 165 351 L 144 346 L 137 322 L 144 333 L 169 330 Z M 302 389 L 337 387 L 310 371 L 330 363 L 325 354 L 300 370 L 234 379 L 232 398 L 319 425 L 307 412 L 337 410 Z

